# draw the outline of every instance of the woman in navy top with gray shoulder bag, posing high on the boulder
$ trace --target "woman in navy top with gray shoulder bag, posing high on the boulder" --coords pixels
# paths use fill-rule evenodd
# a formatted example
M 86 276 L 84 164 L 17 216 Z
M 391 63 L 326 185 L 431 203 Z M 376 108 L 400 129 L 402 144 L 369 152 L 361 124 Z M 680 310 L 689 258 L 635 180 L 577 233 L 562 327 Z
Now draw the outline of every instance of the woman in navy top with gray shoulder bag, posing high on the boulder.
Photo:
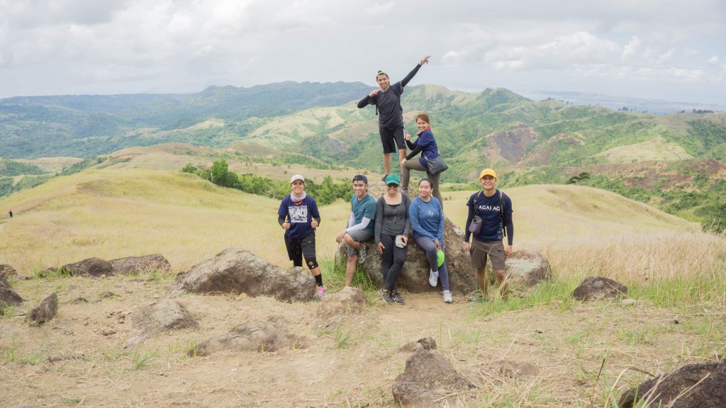
M 418 128 L 418 139 L 415 142 L 411 142 L 411 135 L 406 134 L 406 144 L 408 144 L 411 152 L 401 160 L 401 189 L 404 192 L 408 192 L 408 184 L 411 179 L 411 171 L 425 171 L 426 178 L 431 180 L 431 188 L 433 189 L 433 197 L 439 200 L 441 208 L 444 208 L 444 202 L 441 200 L 441 192 L 439 191 L 439 176 L 441 172 L 432 174 L 428 171 L 428 163 L 426 158 L 433 159 L 439 157 L 439 147 L 436 145 L 436 139 L 433 137 L 431 131 L 431 120 L 425 113 L 420 113 L 416 116 L 416 127 Z M 416 155 L 421 153 L 421 157 L 418 160 L 411 160 Z

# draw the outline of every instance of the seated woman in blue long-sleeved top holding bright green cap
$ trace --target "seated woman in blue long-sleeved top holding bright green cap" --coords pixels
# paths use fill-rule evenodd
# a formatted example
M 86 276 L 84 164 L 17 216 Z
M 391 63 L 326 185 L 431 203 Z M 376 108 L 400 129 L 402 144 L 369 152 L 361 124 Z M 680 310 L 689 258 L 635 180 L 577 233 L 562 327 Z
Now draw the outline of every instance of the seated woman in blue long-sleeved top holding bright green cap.
M 436 197 L 431 197 L 431 180 L 423 179 L 418 183 L 418 197 L 409 207 L 409 219 L 413 228 L 413 238 L 418 246 L 426 251 L 428 264 L 431 266 L 431 273 L 428 276 L 428 283 L 436 287 L 441 279 L 441 288 L 444 290 L 444 302 L 452 303 L 451 290 L 449 290 L 449 272 L 446 270 L 446 262 L 438 266 L 438 250 L 444 250 L 444 211 L 441 209 L 441 202 Z

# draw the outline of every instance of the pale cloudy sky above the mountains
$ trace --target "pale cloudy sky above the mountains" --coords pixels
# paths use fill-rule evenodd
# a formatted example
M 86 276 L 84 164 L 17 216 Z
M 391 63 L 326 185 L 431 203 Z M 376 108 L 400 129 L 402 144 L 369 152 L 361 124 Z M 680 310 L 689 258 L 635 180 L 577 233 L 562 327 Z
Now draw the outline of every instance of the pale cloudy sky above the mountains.
M 723 0 L 0 0 L 0 98 L 393 80 L 726 104 Z

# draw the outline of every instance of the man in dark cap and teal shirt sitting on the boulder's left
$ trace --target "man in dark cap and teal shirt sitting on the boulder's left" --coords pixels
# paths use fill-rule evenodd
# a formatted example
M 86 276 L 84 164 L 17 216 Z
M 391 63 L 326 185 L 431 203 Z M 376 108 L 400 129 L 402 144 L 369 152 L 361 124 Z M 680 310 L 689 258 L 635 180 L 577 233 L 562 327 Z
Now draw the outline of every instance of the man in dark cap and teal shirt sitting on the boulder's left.
M 373 237 L 375 229 L 376 205 L 373 197 L 368 195 L 368 178 L 362 174 L 353 177 L 353 192 L 351 198 L 351 217 L 348 219 L 348 228 L 335 237 L 335 241 L 346 242 L 346 286 L 353 286 L 353 275 L 356 265 L 365 262 L 366 241 Z

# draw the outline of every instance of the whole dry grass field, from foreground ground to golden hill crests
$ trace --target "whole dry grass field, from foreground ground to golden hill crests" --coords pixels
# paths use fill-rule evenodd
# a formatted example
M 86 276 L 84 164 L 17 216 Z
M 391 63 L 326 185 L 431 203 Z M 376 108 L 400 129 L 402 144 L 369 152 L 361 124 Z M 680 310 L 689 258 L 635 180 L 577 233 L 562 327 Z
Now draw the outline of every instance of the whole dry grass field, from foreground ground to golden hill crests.
M 447 192 L 463 225 L 471 192 Z M 507 189 L 515 250 L 539 250 L 555 280 L 503 303 L 454 293 L 404 293 L 325 327 L 317 303 L 245 295 L 184 295 L 199 322 L 123 348 L 129 319 L 162 297 L 174 274 L 12 280 L 25 298 L 0 316 L 0 406 L 36 407 L 397 407 L 391 385 L 409 341 L 432 336 L 437 352 L 477 388 L 446 407 L 608 407 L 627 388 L 682 364 L 726 354 L 726 237 L 598 189 L 542 185 Z M 161 253 L 174 272 L 242 246 L 289 266 L 277 226 L 279 202 L 213 186 L 178 171 L 111 168 L 53 179 L 0 200 L 0 263 L 33 276 L 91 256 Z M 340 288 L 333 237 L 349 204 L 323 207 L 317 242 L 329 290 Z M 582 303 L 571 291 L 588 276 L 629 287 L 635 303 Z M 23 314 L 57 292 L 59 315 L 30 327 Z M 110 291 L 113 296 L 102 298 Z M 97 303 L 71 303 L 83 296 Z M 277 317 L 306 338 L 300 348 L 189 357 L 200 340 L 243 322 Z M 497 362 L 527 362 L 510 375 Z M 602 372 L 600 372 L 600 368 Z M 600 374 L 598 375 L 598 373 Z

